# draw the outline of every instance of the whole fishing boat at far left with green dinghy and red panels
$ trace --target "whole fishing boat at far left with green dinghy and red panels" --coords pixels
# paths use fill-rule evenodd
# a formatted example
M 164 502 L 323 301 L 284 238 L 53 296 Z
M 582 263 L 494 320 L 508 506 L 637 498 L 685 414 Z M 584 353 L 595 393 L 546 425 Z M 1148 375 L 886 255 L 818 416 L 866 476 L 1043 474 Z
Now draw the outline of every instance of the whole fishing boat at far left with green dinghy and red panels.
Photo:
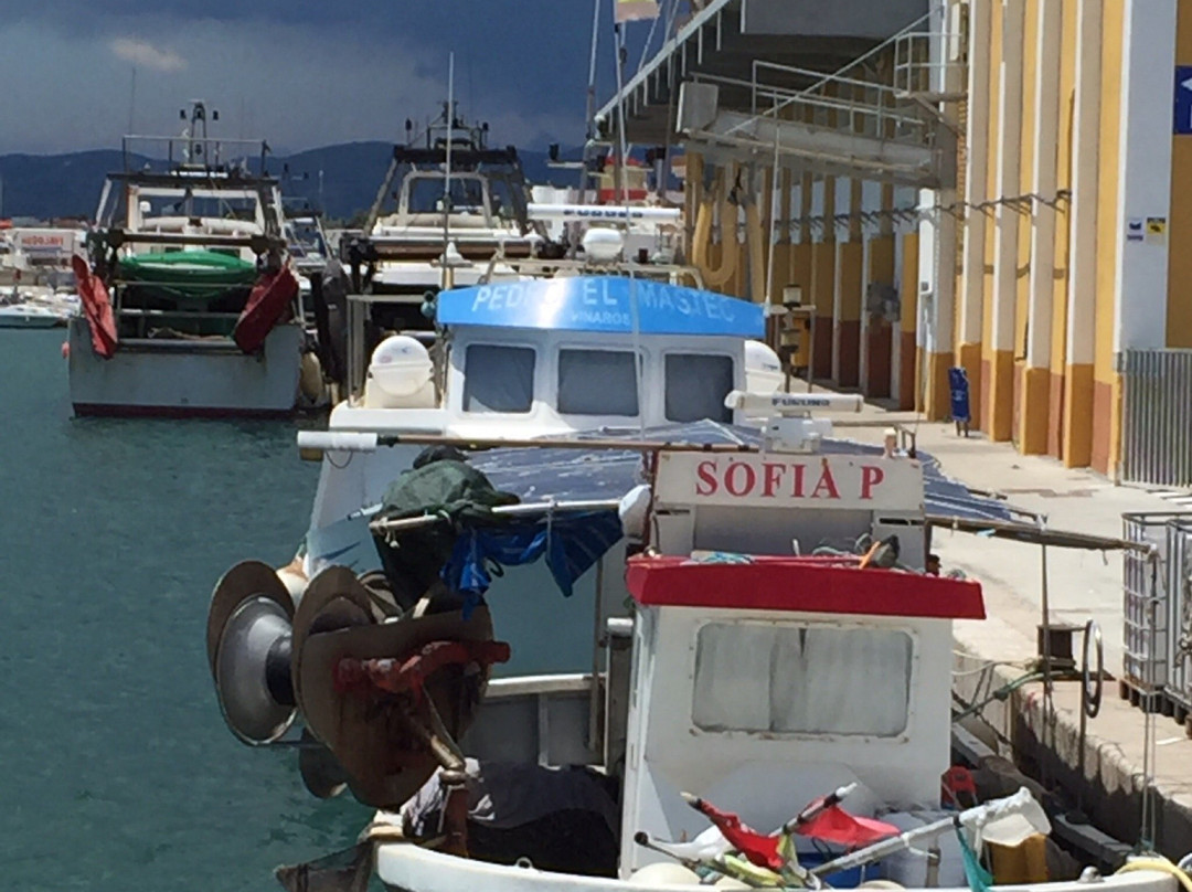
M 187 122 L 180 137 L 125 138 L 126 157 L 147 138 L 164 144 L 168 168 L 110 175 L 91 264 L 75 259 L 77 415 L 284 416 L 321 397 L 318 374 L 299 389 L 316 360 L 265 144 L 209 138 L 203 103 Z M 247 145 L 261 153 L 255 172 L 228 157 Z

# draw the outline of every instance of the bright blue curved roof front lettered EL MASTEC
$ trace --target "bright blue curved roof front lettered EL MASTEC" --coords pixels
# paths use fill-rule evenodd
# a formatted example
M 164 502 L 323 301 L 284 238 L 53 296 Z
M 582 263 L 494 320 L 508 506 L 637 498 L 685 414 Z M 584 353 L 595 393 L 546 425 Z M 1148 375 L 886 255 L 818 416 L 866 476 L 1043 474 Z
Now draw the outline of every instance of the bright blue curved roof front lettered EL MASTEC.
M 625 275 L 569 275 L 453 289 L 439 295 L 442 326 L 604 334 L 762 337 L 760 304 Z

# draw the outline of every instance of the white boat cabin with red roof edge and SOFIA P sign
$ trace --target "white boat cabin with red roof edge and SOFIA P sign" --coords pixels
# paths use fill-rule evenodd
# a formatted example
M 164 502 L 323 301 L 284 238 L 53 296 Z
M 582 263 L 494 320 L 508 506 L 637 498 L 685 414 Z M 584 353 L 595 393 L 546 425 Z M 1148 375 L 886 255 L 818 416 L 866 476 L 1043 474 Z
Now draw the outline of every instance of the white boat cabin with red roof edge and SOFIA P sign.
M 850 811 L 938 807 L 951 624 L 983 608 L 923 575 L 923 491 L 905 457 L 659 456 L 654 553 L 627 576 L 623 826 L 694 838 L 681 792 L 765 830 L 858 781 Z M 892 535 L 905 569 L 859 569 L 850 545 Z M 659 857 L 622 834 L 622 876 Z

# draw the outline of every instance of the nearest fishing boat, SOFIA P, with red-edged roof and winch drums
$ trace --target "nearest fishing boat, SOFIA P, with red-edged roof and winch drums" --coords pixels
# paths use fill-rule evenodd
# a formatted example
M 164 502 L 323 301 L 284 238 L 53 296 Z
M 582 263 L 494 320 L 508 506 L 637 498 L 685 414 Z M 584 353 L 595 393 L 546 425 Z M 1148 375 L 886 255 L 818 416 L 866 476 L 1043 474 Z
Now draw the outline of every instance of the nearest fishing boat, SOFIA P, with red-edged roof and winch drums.
M 371 521 L 380 577 L 329 566 L 287 589 L 255 562 L 224 576 L 207 650 L 229 726 L 260 745 L 300 717 L 311 792 L 378 809 L 358 847 L 279 871 L 283 885 L 1186 888 L 1153 854 L 1056 875 L 1025 787 L 945 801 L 962 792 L 952 622 L 985 617 L 976 582 L 926 571 L 929 508 L 955 494 L 893 438 L 849 447 L 811 417 L 858 397 L 724 402 L 763 433 L 427 457 Z M 620 497 L 577 497 L 594 481 Z M 986 509 L 1005 510 L 973 500 Z M 528 607 L 489 583 L 539 556 L 560 587 L 598 568 L 601 658 L 490 680 L 510 651 L 570 644 L 544 586 L 557 631 L 502 625 Z

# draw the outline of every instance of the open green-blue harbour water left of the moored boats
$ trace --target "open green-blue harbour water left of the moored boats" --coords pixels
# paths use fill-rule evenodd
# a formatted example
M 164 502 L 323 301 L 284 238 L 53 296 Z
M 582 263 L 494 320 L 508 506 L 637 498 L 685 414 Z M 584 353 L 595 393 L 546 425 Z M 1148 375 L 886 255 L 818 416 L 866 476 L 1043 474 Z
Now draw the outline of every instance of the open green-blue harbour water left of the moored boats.
M 219 575 L 287 563 L 317 466 L 285 422 L 73 419 L 61 330 L 0 330 L 0 875 L 13 890 L 277 890 L 368 811 L 224 727 Z

